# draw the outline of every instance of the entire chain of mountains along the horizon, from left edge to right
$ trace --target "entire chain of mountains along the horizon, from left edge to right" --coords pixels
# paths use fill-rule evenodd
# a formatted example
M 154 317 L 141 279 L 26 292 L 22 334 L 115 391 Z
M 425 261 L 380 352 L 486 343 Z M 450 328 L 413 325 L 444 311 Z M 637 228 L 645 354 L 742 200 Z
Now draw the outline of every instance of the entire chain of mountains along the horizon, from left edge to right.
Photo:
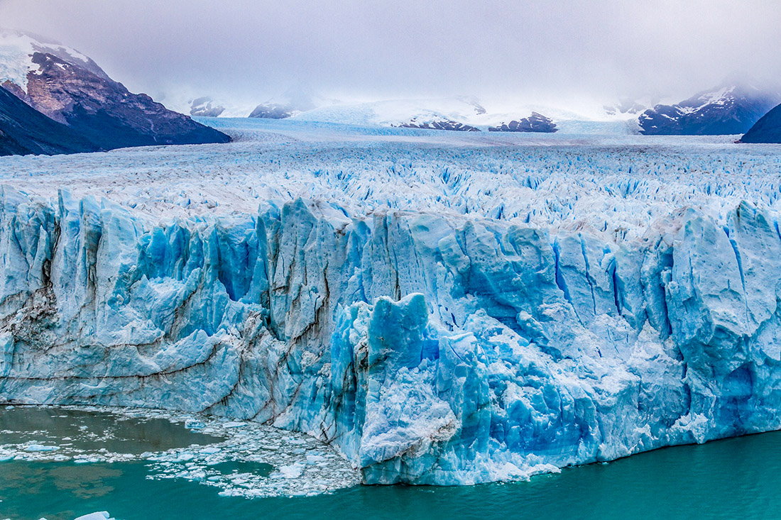
M 133 94 L 87 56 L 41 37 L 0 30 L 0 153 L 72 153 L 155 144 L 224 143 L 230 137 Z M 234 100 L 235 101 L 235 100 Z M 496 109 L 472 97 L 341 103 L 301 91 L 241 109 L 230 100 L 190 98 L 178 108 L 194 117 L 309 120 L 419 130 L 563 134 L 732 135 L 775 139 L 781 89 L 723 84 L 682 102 L 622 99 L 587 116 L 551 106 Z M 227 107 L 227 108 L 226 108 Z M 41 119 L 27 109 L 48 119 Z M 771 116 L 769 114 L 769 116 Z M 762 118 L 762 120 L 761 120 Z M 761 124 L 758 123 L 761 120 Z M 57 124 L 54 124 L 57 123 Z M 752 128 L 757 123 L 756 129 Z M 749 130 L 751 129 L 751 130 Z

